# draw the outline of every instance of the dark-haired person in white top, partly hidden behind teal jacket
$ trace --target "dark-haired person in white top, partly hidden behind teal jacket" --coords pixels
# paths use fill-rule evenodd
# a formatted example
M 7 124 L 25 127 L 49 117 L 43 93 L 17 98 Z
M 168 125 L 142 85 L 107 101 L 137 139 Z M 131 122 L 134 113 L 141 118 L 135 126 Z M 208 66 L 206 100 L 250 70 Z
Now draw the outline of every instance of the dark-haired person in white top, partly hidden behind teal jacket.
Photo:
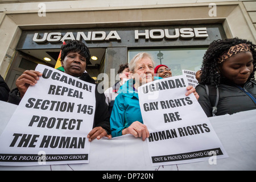
M 123 85 L 130 78 L 130 69 L 128 64 L 119 65 L 118 72 L 120 81 L 116 82 L 112 87 L 105 90 L 106 104 L 109 107 L 109 113 L 111 114 L 114 105 L 115 97 L 117 97 L 120 86 Z

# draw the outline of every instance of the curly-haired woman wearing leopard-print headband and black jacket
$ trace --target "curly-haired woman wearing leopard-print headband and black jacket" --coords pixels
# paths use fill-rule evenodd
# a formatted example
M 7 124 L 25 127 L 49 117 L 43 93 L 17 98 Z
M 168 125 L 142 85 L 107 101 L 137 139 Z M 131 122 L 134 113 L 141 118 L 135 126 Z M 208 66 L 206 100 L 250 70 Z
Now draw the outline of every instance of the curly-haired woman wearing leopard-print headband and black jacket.
M 250 41 L 233 38 L 210 43 L 196 86 L 205 114 L 212 117 L 214 113 L 224 115 L 256 109 L 255 67 L 255 45 Z M 217 111 L 212 112 L 216 101 Z

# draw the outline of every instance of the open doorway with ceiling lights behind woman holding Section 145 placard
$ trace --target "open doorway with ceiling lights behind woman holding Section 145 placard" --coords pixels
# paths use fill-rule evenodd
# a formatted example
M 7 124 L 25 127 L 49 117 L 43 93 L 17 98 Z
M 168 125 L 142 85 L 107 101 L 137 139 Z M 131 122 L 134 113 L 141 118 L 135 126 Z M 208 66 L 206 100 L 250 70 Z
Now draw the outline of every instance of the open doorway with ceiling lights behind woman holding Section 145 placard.
M 97 60 L 92 58 L 86 65 L 86 72 L 97 82 L 97 76 L 104 73 L 106 48 L 89 48 L 91 56 L 96 56 Z M 17 50 L 10 66 L 5 81 L 10 89 L 16 88 L 16 79 L 27 69 L 35 70 L 38 64 L 47 65 L 54 68 L 59 57 L 60 49 L 30 49 Z M 51 61 L 45 61 L 48 57 Z

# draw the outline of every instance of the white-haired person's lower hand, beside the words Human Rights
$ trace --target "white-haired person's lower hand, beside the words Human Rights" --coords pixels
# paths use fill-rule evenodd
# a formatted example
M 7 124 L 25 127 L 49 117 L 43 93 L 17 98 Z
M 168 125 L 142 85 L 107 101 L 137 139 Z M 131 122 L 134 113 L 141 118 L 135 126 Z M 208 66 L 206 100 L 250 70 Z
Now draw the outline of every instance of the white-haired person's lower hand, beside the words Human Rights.
M 126 129 L 123 129 L 122 135 L 126 135 L 126 134 L 132 134 L 136 138 L 142 137 L 143 141 L 149 137 L 149 131 L 147 130 L 147 126 L 143 125 L 139 121 L 135 121 L 131 123 L 129 127 L 127 127 Z

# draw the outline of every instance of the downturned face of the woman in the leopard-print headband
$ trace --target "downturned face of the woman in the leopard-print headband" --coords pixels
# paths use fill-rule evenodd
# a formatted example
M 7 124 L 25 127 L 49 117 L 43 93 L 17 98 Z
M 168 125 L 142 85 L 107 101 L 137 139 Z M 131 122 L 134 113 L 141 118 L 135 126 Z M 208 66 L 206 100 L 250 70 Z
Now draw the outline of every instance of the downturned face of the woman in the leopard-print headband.
M 243 86 L 253 72 L 253 55 L 251 52 L 240 52 L 229 57 L 220 66 L 221 75 L 234 84 Z

